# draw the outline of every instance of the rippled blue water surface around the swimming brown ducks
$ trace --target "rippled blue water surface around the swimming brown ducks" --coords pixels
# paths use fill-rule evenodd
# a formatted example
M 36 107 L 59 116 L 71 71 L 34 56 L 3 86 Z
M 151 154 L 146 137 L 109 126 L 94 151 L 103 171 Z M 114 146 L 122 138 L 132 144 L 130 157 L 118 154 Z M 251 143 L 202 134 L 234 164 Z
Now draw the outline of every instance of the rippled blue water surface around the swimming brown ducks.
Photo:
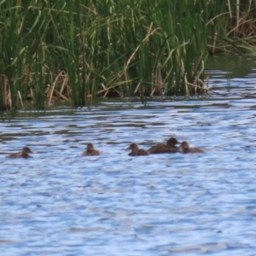
M 1 256 L 255 255 L 256 58 L 208 73 L 215 93 L 185 101 L 3 116 Z M 125 151 L 169 137 L 207 153 Z M 102 155 L 82 158 L 87 142 Z M 25 145 L 32 159 L 5 158 Z

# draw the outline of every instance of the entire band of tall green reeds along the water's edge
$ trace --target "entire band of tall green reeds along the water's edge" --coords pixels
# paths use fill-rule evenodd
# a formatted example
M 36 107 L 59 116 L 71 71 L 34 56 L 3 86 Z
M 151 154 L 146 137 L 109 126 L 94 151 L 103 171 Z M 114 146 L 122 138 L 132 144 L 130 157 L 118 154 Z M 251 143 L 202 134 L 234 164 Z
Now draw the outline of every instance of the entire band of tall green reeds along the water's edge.
M 255 8 L 256 0 L 1 1 L 0 109 L 207 93 L 209 55 L 255 49 Z

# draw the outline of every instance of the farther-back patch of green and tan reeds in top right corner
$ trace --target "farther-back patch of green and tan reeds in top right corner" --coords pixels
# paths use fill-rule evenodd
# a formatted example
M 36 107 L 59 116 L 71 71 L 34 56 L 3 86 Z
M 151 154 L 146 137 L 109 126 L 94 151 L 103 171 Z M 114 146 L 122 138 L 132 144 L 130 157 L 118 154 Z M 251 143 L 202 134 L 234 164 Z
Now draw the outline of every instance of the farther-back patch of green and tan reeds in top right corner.
M 209 1 L 213 3 L 214 1 Z M 207 27 L 212 34 L 208 48 L 215 52 L 254 52 L 256 44 L 256 1 L 226 0 L 212 4 Z

